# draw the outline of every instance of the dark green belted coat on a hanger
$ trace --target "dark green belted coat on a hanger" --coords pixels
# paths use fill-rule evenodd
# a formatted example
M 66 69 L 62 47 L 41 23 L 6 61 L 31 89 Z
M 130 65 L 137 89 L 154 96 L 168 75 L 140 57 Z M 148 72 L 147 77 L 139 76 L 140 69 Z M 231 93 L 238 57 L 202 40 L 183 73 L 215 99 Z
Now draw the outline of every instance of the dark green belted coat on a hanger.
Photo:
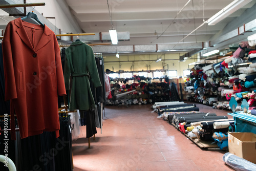
M 72 77 L 70 111 L 95 108 L 89 79 L 92 80 L 95 88 L 100 87 L 101 82 L 93 50 L 82 41 L 72 42 L 71 46 L 66 50 L 64 69 L 66 90 L 70 89 L 70 76 Z

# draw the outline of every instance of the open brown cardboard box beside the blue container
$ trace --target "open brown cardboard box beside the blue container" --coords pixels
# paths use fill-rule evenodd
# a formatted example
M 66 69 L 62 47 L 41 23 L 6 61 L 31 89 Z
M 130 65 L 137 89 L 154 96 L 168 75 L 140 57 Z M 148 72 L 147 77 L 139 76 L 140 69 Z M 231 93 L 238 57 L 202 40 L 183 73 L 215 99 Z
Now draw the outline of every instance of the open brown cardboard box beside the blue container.
M 231 154 L 256 163 L 256 134 L 228 133 L 228 151 Z

